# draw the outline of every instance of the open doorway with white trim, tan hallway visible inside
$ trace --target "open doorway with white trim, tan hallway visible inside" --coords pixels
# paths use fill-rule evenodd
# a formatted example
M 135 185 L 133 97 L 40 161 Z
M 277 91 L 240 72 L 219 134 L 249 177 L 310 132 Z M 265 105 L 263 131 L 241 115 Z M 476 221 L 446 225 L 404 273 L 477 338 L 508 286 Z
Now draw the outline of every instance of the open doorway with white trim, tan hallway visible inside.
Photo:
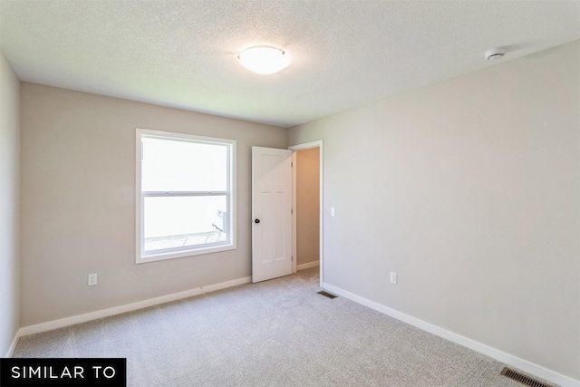
M 293 150 L 293 273 L 319 266 L 323 287 L 323 141 L 288 147 Z

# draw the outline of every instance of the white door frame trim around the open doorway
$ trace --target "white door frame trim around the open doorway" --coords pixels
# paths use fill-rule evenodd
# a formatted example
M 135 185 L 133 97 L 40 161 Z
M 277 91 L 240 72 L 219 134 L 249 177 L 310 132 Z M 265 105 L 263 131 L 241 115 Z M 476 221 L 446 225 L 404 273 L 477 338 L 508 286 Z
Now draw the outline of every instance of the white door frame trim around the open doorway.
M 318 156 L 318 168 L 319 168 L 319 185 L 320 185 L 320 198 L 319 200 L 319 270 L 320 270 L 320 287 L 323 287 L 324 284 L 324 153 L 323 153 L 323 140 L 316 140 L 311 142 L 306 142 L 304 144 L 297 144 L 291 147 L 288 147 L 288 150 L 292 150 L 292 162 L 295 168 L 292 169 L 292 208 L 295 210 L 292 214 L 292 256 L 295 256 L 295 259 L 292 260 L 292 273 L 296 272 L 296 262 L 298 260 L 298 256 L 296 255 L 296 150 L 309 150 L 312 148 L 319 149 L 319 156 Z

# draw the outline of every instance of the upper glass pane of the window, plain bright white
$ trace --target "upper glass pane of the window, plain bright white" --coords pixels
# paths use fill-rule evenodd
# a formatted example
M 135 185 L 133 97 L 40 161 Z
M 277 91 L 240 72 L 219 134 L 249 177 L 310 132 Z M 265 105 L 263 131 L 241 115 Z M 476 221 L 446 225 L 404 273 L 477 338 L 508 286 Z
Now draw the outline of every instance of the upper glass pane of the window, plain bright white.
M 226 144 L 142 137 L 142 191 L 226 191 Z

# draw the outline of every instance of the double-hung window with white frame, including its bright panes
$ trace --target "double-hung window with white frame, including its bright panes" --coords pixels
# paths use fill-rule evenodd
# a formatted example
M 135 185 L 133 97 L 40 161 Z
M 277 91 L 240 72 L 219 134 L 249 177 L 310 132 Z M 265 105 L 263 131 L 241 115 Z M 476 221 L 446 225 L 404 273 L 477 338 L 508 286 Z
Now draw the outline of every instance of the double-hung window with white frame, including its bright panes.
M 137 130 L 137 263 L 236 248 L 236 141 Z

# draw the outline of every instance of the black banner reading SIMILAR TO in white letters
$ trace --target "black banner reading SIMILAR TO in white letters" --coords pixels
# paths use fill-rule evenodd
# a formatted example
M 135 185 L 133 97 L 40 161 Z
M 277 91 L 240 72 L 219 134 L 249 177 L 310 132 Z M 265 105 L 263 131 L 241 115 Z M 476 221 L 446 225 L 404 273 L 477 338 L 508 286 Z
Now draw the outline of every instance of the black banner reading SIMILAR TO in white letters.
M 2 387 L 126 387 L 127 359 L 0 359 Z

